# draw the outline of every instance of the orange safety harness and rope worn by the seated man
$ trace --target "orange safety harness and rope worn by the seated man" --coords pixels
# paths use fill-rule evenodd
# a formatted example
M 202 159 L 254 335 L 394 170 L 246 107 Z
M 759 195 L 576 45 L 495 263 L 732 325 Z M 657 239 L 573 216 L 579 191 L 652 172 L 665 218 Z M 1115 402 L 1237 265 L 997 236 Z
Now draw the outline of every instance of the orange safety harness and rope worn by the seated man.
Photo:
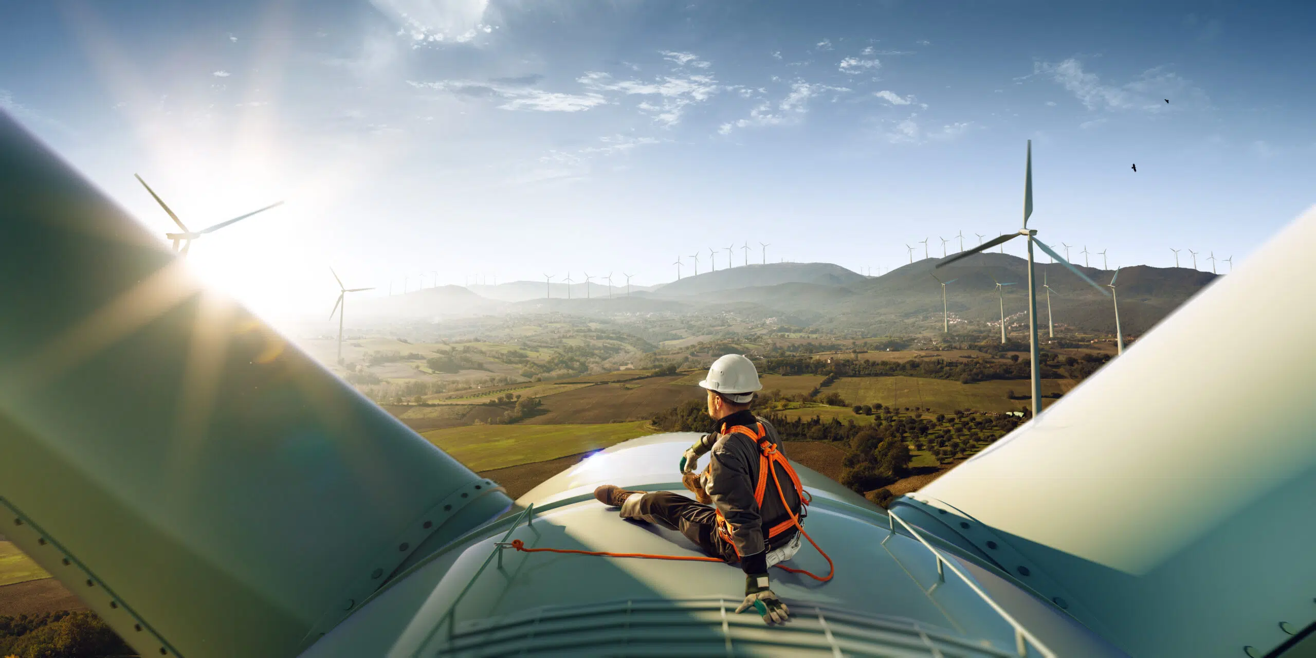
M 800 530 L 800 534 L 803 534 L 804 538 L 808 540 L 809 544 L 812 544 L 813 547 L 822 555 L 822 558 L 826 559 L 828 574 L 825 576 L 820 576 L 820 575 L 816 575 L 816 574 L 813 574 L 813 572 L 811 572 L 808 570 L 804 570 L 804 569 L 791 569 L 791 567 L 784 566 L 782 563 L 776 563 L 776 565 L 772 565 L 772 566 L 775 566 L 778 569 L 782 569 L 784 571 L 790 571 L 792 574 L 804 574 L 804 575 L 807 575 L 807 576 L 809 576 L 809 578 L 812 578 L 815 580 L 819 580 L 819 582 L 824 582 L 825 583 L 825 582 L 830 580 L 832 576 L 836 575 L 836 565 L 832 563 L 832 558 L 826 554 L 826 551 L 824 551 L 822 547 L 819 546 L 816 541 L 813 541 L 813 537 L 809 537 L 809 533 L 804 532 L 804 526 L 800 525 L 800 517 L 795 512 L 792 512 L 791 511 L 791 505 L 786 503 L 786 494 L 782 491 L 782 483 L 776 478 L 775 465 L 780 465 L 782 467 L 786 468 L 786 472 L 791 476 L 791 483 L 795 484 L 795 492 L 799 496 L 801 512 L 803 512 L 803 508 L 805 508 L 809 503 L 813 501 L 813 496 L 811 496 L 807 491 L 804 491 L 804 487 L 800 484 L 800 478 L 799 478 L 799 475 L 795 474 L 795 468 L 791 467 L 791 462 L 786 461 L 786 457 L 780 453 L 780 450 L 776 449 L 776 445 L 767 440 L 767 436 L 766 436 L 766 432 L 763 430 L 763 424 L 762 422 L 758 424 L 758 432 L 754 432 L 754 430 L 751 430 L 751 429 L 749 429 L 749 428 L 746 428 L 744 425 L 736 425 L 736 426 L 730 428 L 730 432 L 734 432 L 734 433 L 738 433 L 738 434 L 745 434 L 745 436 L 750 437 L 751 440 L 754 440 L 755 443 L 758 445 L 758 451 L 759 451 L 759 458 L 758 458 L 758 484 L 754 487 L 754 503 L 757 503 L 759 505 L 759 508 L 763 507 L 763 494 L 767 491 L 767 478 L 769 478 L 769 475 L 771 475 L 772 484 L 776 486 L 776 495 L 780 496 L 782 507 L 784 507 L 786 508 L 786 513 L 791 516 L 788 520 L 782 521 L 782 522 L 774 525 L 772 528 L 770 528 L 767 530 L 767 537 L 766 538 L 770 540 L 772 537 L 776 537 L 778 534 L 782 534 L 783 532 L 788 530 L 791 526 L 797 528 Z M 712 463 L 708 465 L 708 468 L 711 468 L 711 467 L 712 467 Z M 708 472 L 708 468 L 705 468 L 705 474 Z M 732 541 L 730 522 L 726 521 L 726 519 L 722 516 L 722 512 L 720 509 L 717 511 L 717 534 L 721 536 L 722 541 L 725 541 L 726 544 L 730 544 L 732 549 L 734 550 L 736 544 Z M 528 547 L 525 547 L 525 542 L 522 542 L 521 540 L 512 540 L 512 547 L 516 549 L 516 550 L 520 550 L 522 553 L 575 553 L 578 555 L 600 555 L 600 557 L 608 557 L 608 558 L 645 558 L 645 559 L 678 559 L 678 561 L 692 561 L 692 562 L 724 562 L 722 558 L 712 558 L 712 557 L 704 557 L 704 555 L 657 555 L 657 554 L 651 554 L 651 553 L 609 553 L 609 551 L 604 551 L 604 550 L 528 549 Z M 736 555 L 740 557 L 740 551 L 738 550 L 736 551 Z

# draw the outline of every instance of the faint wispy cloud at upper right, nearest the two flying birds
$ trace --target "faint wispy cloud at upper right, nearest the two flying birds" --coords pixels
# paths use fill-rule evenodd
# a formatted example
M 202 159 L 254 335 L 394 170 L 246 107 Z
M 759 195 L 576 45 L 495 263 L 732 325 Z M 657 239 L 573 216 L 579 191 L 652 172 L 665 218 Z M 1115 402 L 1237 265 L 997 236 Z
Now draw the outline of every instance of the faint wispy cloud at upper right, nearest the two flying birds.
M 1205 92 L 1165 66 L 1148 68 L 1125 84 L 1103 83 L 1100 76 L 1084 71 L 1074 58 L 1058 63 L 1034 62 L 1032 75 L 1054 80 L 1091 111 L 1174 112 L 1208 104 Z M 1175 99 L 1174 104 L 1167 105 L 1162 100 L 1166 97 Z

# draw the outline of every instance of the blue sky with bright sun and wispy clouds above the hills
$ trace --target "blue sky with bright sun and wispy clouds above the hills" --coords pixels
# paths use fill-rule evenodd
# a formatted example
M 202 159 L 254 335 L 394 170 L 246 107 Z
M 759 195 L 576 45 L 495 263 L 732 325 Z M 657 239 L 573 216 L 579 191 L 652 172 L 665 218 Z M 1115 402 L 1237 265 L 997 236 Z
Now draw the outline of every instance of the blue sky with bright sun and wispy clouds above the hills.
M 349 287 L 1238 265 L 1316 201 L 1312 3 L 8 3 L 0 108 L 278 320 Z M 1165 103 L 1169 99 L 1170 103 Z M 1137 164 L 1137 172 L 1132 164 Z M 1017 241 L 1016 241 L 1017 242 Z M 761 247 L 761 243 L 769 246 Z M 750 249 L 744 249 L 749 245 Z M 1007 253 L 1021 255 L 1023 243 Z M 766 253 L 765 253 L 766 251 Z M 1100 266 L 1100 257 L 1092 266 Z M 1227 263 L 1217 263 L 1228 271 Z M 321 308 L 322 307 L 322 308 Z

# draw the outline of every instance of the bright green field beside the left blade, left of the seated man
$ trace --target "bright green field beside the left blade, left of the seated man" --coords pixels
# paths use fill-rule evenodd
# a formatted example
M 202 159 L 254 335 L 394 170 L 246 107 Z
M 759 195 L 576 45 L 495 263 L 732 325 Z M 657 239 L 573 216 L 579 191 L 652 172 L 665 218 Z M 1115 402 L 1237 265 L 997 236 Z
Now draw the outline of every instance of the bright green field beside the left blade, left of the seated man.
M 595 425 L 470 425 L 421 436 L 472 471 L 586 453 L 653 434 L 647 421 Z

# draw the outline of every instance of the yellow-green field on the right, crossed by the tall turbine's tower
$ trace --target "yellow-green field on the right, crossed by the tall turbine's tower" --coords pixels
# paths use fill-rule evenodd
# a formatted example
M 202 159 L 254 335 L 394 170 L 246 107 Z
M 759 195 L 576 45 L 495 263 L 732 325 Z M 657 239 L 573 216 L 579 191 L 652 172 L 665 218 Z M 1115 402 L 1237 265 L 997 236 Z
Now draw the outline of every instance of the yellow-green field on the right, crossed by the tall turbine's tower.
M 946 379 L 926 379 L 915 376 L 855 376 L 841 378 L 822 390 L 836 391 L 848 404 L 882 403 L 888 407 L 923 407 L 938 412 L 954 409 L 974 409 L 984 412 L 1019 411 L 1029 405 L 1029 400 L 1011 400 L 1015 395 L 1028 395 L 1026 379 L 978 382 L 961 384 Z M 1044 379 L 1042 395 L 1066 392 L 1074 388 L 1069 379 Z M 1045 400 L 1050 404 L 1054 400 Z

